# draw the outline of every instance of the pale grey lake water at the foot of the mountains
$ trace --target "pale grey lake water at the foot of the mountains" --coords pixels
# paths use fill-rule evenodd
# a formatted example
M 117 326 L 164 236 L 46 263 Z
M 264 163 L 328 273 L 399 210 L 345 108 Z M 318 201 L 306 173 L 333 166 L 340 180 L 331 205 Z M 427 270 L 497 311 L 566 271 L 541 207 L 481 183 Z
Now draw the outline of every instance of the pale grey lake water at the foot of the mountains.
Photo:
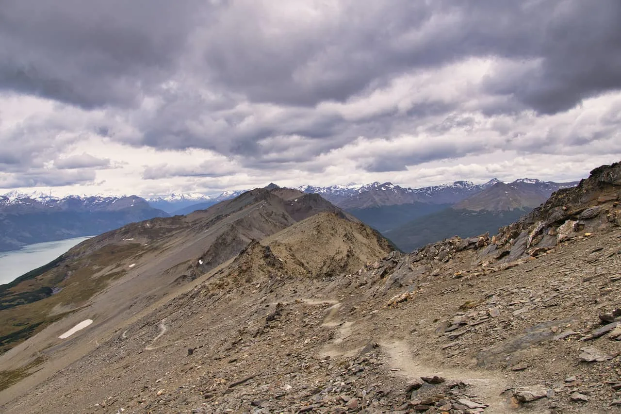
M 23 249 L 0 253 L 0 285 L 12 282 L 30 270 L 48 264 L 88 237 L 29 244 Z

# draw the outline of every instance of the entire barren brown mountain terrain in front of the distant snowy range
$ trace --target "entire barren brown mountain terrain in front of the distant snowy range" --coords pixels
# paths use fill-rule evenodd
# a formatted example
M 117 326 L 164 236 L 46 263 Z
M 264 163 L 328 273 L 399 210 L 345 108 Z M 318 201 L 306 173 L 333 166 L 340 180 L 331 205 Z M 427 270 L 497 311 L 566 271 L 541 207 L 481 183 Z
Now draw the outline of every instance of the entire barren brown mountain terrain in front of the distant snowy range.
M 615 412 L 620 201 L 605 165 L 407 254 L 277 186 L 128 224 L 0 287 L 0 411 Z

